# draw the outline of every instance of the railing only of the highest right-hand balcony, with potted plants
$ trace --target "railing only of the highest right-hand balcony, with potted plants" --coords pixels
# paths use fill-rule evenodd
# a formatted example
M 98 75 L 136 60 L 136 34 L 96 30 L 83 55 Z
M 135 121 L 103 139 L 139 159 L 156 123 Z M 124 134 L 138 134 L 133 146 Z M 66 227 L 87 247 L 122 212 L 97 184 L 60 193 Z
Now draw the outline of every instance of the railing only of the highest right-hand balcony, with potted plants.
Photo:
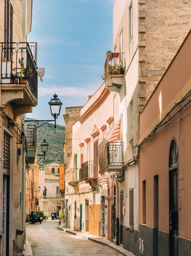
M 108 75 L 123 75 L 125 72 L 124 53 L 110 53 L 105 61 L 105 81 Z

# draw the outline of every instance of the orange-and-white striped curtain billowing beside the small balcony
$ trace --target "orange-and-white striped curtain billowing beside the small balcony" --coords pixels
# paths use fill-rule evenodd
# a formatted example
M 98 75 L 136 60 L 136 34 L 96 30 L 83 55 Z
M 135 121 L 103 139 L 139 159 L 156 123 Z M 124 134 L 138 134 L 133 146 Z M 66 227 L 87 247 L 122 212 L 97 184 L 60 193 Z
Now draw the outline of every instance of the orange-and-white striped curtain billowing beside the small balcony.
M 103 141 L 99 144 L 98 147 L 98 163 L 99 163 L 99 173 L 108 172 L 108 152 L 107 144 L 108 142 L 115 142 L 120 140 L 120 128 L 121 128 L 121 115 L 111 126 L 107 135 L 103 138 Z

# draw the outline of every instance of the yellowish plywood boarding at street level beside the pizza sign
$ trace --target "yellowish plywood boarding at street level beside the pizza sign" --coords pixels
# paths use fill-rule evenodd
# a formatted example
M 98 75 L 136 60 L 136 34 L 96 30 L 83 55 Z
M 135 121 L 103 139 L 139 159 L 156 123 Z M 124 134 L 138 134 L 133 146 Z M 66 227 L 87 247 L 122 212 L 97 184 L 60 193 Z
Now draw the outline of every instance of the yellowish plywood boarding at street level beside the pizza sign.
M 89 234 L 100 237 L 100 204 L 89 205 Z

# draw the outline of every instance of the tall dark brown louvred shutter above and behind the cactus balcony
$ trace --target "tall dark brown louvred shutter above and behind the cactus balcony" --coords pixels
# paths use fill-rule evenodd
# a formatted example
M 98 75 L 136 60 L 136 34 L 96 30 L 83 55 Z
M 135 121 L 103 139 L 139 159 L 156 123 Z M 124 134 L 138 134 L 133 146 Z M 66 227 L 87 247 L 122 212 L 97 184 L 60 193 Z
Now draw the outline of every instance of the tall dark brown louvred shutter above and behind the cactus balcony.
M 6 44 L 5 47 L 13 47 L 13 6 L 10 3 L 10 0 L 6 0 L 5 4 L 5 41 L 9 44 Z M 6 60 L 8 61 L 11 57 L 12 49 L 6 50 Z

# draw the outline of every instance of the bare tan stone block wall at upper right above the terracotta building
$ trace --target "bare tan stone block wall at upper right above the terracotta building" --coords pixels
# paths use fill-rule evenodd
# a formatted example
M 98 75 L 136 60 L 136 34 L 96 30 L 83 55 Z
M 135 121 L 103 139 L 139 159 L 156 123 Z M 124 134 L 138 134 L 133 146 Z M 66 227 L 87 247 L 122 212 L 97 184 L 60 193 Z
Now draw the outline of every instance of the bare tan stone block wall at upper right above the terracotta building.
M 191 27 L 191 2 L 138 0 L 139 112 Z

